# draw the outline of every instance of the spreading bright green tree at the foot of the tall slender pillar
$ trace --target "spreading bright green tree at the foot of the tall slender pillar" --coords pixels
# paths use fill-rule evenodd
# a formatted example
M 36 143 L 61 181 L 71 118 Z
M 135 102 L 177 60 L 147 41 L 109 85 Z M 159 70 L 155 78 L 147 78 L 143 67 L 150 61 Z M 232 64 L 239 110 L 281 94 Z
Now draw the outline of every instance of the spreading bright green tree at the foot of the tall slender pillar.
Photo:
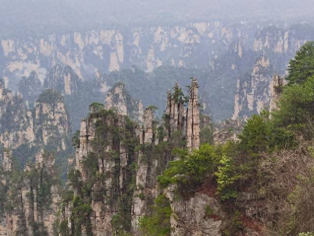
M 219 160 L 215 149 L 209 144 L 200 146 L 199 150 L 190 154 L 185 149 L 174 149 L 173 154 L 178 155 L 179 160 L 171 161 L 169 168 L 157 177 L 161 187 L 178 183 L 183 188 L 194 188 L 213 173 Z

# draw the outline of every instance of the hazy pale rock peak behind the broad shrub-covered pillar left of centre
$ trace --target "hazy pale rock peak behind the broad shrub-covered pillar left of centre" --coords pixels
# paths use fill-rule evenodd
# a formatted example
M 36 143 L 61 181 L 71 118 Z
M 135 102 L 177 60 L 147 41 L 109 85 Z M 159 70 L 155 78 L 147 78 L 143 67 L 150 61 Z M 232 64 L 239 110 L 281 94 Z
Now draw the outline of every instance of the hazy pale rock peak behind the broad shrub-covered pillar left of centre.
M 131 99 L 123 83 L 116 83 L 109 89 L 105 97 L 105 109 L 115 108 L 123 116 L 130 116 L 136 120 L 143 120 L 143 104 L 141 101 Z

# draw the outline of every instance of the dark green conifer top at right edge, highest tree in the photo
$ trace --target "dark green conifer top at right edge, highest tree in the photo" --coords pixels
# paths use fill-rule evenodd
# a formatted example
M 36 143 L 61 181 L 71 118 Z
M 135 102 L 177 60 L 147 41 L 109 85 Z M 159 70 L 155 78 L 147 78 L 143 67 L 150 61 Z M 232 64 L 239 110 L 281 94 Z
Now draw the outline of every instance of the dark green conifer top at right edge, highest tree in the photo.
M 314 75 L 314 41 L 306 42 L 289 61 L 287 80 L 290 84 L 303 83 Z

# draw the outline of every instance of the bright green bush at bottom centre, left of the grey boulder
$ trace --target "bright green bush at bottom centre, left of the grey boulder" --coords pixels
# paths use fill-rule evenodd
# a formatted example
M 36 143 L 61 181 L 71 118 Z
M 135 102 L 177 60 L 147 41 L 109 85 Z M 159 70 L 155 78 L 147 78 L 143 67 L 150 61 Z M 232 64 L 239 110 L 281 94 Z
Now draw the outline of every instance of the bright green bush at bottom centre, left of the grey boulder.
M 138 228 L 141 236 L 169 236 L 171 207 L 166 196 L 158 195 L 151 210 L 151 215 L 139 218 Z

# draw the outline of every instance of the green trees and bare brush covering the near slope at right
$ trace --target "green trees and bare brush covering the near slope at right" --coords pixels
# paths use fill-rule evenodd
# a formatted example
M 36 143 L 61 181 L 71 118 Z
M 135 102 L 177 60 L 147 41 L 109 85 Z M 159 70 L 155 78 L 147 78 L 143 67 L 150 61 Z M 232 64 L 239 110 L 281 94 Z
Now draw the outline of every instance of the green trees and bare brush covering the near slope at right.
M 313 45 L 306 43 L 291 60 L 290 83 L 284 88 L 276 111 L 269 114 L 262 110 L 249 118 L 238 141 L 218 146 L 205 144 L 191 154 L 184 149 L 174 150 L 173 154 L 179 154 L 177 160 L 170 162 L 158 177 L 161 187 L 175 183 L 182 193 L 195 192 L 208 179 L 214 179 L 216 195 L 228 206 L 225 210 L 230 215 L 225 236 L 244 229 L 230 228 L 234 212 L 245 210 L 237 202 L 243 193 L 254 196 L 256 203 L 263 205 L 252 215 L 263 225 L 263 234 L 282 236 L 314 231 Z M 305 65 L 301 70 L 300 66 Z

